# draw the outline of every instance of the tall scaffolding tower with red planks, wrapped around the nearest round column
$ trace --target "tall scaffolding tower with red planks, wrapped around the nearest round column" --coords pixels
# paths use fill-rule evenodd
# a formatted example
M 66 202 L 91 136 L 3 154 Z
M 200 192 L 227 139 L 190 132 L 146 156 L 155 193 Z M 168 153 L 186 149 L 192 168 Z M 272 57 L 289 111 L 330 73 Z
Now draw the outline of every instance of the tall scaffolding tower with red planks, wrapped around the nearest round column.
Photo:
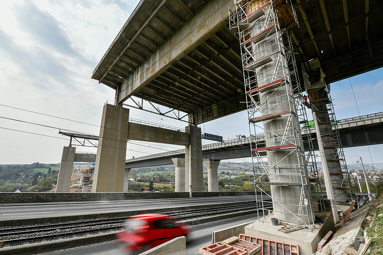
M 241 46 L 253 171 L 260 169 L 254 185 L 261 207 L 272 203 L 278 219 L 311 229 L 315 215 L 310 180 L 318 188 L 319 178 L 311 133 L 305 140 L 301 134 L 308 120 L 288 32 L 298 27 L 294 8 L 288 0 L 237 0 L 236 10 L 229 13 L 230 29 Z

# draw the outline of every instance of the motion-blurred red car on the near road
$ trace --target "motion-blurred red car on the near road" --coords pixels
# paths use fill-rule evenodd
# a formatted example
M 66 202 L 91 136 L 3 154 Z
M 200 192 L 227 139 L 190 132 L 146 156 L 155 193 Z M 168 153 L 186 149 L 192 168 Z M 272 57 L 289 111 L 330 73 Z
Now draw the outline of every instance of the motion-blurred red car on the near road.
M 188 225 L 159 213 L 129 217 L 124 228 L 127 231 L 117 233 L 116 236 L 129 254 L 139 254 L 176 237 L 187 237 L 191 232 Z

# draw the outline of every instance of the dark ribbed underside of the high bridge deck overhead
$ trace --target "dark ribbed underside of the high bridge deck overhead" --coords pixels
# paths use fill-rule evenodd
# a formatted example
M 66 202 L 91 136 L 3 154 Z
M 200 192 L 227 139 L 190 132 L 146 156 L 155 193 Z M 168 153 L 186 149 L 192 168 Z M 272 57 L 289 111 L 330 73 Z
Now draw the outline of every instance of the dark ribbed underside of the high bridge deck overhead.
M 205 2 L 143 1 L 137 9 L 143 13 L 141 19 L 127 22 L 131 29 L 116 38 L 92 78 L 118 90 L 139 66 L 150 66 L 146 63 L 150 55 L 207 7 Z M 380 0 L 293 0 L 293 4 L 300 24 L 292 32 L 298 68 L 318 58 L 331 83 L 383 66 Z M 134 37 L 135 32 L 139 35 Z M 239 40 L 227 23 L 192 47 L 132 95 L 192 113 L 194 124 L 244 110 Z

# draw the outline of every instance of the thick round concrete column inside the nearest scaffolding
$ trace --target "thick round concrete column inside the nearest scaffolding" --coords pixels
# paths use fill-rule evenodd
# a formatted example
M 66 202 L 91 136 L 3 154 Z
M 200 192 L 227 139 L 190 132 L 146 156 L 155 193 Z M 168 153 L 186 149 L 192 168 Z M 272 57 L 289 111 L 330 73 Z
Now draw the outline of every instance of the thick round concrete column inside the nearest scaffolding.
M 258 3 L 259 1 L 253 2 L 255 5 Z M 261 24 L 263 21 L 267 21 L 266 15 L 257 22 Z M 250 36 L 259 34 L 263 29 L 265 29 L 264 25 L 252 26 Z M 262 113 L 262 116 L 279 116 L 275 119 L 266 118 L 262 121 L 265 146 L 273 147 L 291 143 L 296 143 L 296 145 L 299 146 L 297 147 L 297 151 L 292 153 L 290 153 L 292 149 L 267 151 L 267 163 L 268 167 L 271 168 L 270 171 L 268 171 L 268 177 L 270 182 L 275 183 L 275 185 L 270 186 L 273 210 L 275 217 L 280 220 L 296 223 L 297 218 L 293 214 L 297 215 L 300 213 L 302 215 L 308 215 L 307 218 L 301 217 L 302 221 L 305 223 L 312 223 L 313 218 L 315 217 L 312 203 L 307 209 L 303 207 L 302 212 L 299 211 L 301 187 L 283 185 L 283 183 L 301 183 L 301 177 L 297 173 L 299 171 L 304 171 L 304 175 L 307 176 L 307 168 L 304 165 L 303 141 L 300 133 L 299 121 L 296 116 L 297 109 L 290 82 L 290 74 L 288 73 L 288 69 L 278 66 L 280 65 L 279 61 L 282 61 L 283 65 L 287 66 L 287 61 L 284 57 L 281 57 L 281 59 L 278 58 L 278 54 L 281 54 L 278 52 L 278 41 L 282 40 L 282 37 L 279 34 L 279 31 L 270 31 L 270 34 L 268 34 L 264 40 L 256 41 L 253 44 L 254 59 L 261 59 L 268 54 L 271 54 L 272 59 L 266 64 L 254 66 L 257 84 L 258 86 L 267 85 L 276 82 L 281 77 L 285 78 L 285 84 L 282 84 L 281 87 L 276 89 L 265 89 L 260 90 L 259 92 L 259 110 Z M 295 127 L 295 129 L 293 127 Z M 286 137 L 288 141 L 281 137 Z M 274 165 L 275 167 L 272 167 Z M 297 166 L 299 166 L 300 169 Z M 281 183 L 281 185 L 278 183 Z M 310 190 L 308 192 L 310 192 Z M 307 197 L 310 199 L 311 195 L 308 194 Z

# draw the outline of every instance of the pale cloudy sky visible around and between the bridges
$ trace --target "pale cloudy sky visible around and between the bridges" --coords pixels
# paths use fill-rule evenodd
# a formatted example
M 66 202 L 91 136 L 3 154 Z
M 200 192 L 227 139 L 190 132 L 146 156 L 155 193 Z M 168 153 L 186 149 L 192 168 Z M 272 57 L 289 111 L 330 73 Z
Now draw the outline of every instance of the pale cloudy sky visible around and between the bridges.
M 114 90 L 90 77 L 138 0 L 36 0 L 0 3 L 0 104 L 100 125 L 102 107 L 114 102 Z M 351 78 L 362 115 L 383 111 L 383 70 Z M 358 116 L 349 80 L 332 84 L 338 119 Z M 0 106 L 0 164 L 54 163 L 68 145 L 58 129 L 98 135 L 99 128 Z M 185 127 L 185 123 L 131 110 L 131 118 Z M 248 135 L 242 112 L 201 126 L 222 136 Z M 4 128 L 50 135 L 45 137 Z M 64 139 L 63 139 L 64 138 Z M 204 141 L 205 142 L 205 141 Z M 177 148 L 128 143 L 127 158 Z M 161 149 L 158 149 L 161 148 Z M 370 146 L 374 162 L 383 162 L 383 145 Z M 95 152 L 77 147 L 77 151 Z M 141 151 L 141 152 L 138 152 Z M 348 148 L 347 162 L 362 156 L 371 162 L 367 147 Z M 231 160 L 240 162 L 241 160 Z M 243 160 L 242 160 L 243 161 Z

